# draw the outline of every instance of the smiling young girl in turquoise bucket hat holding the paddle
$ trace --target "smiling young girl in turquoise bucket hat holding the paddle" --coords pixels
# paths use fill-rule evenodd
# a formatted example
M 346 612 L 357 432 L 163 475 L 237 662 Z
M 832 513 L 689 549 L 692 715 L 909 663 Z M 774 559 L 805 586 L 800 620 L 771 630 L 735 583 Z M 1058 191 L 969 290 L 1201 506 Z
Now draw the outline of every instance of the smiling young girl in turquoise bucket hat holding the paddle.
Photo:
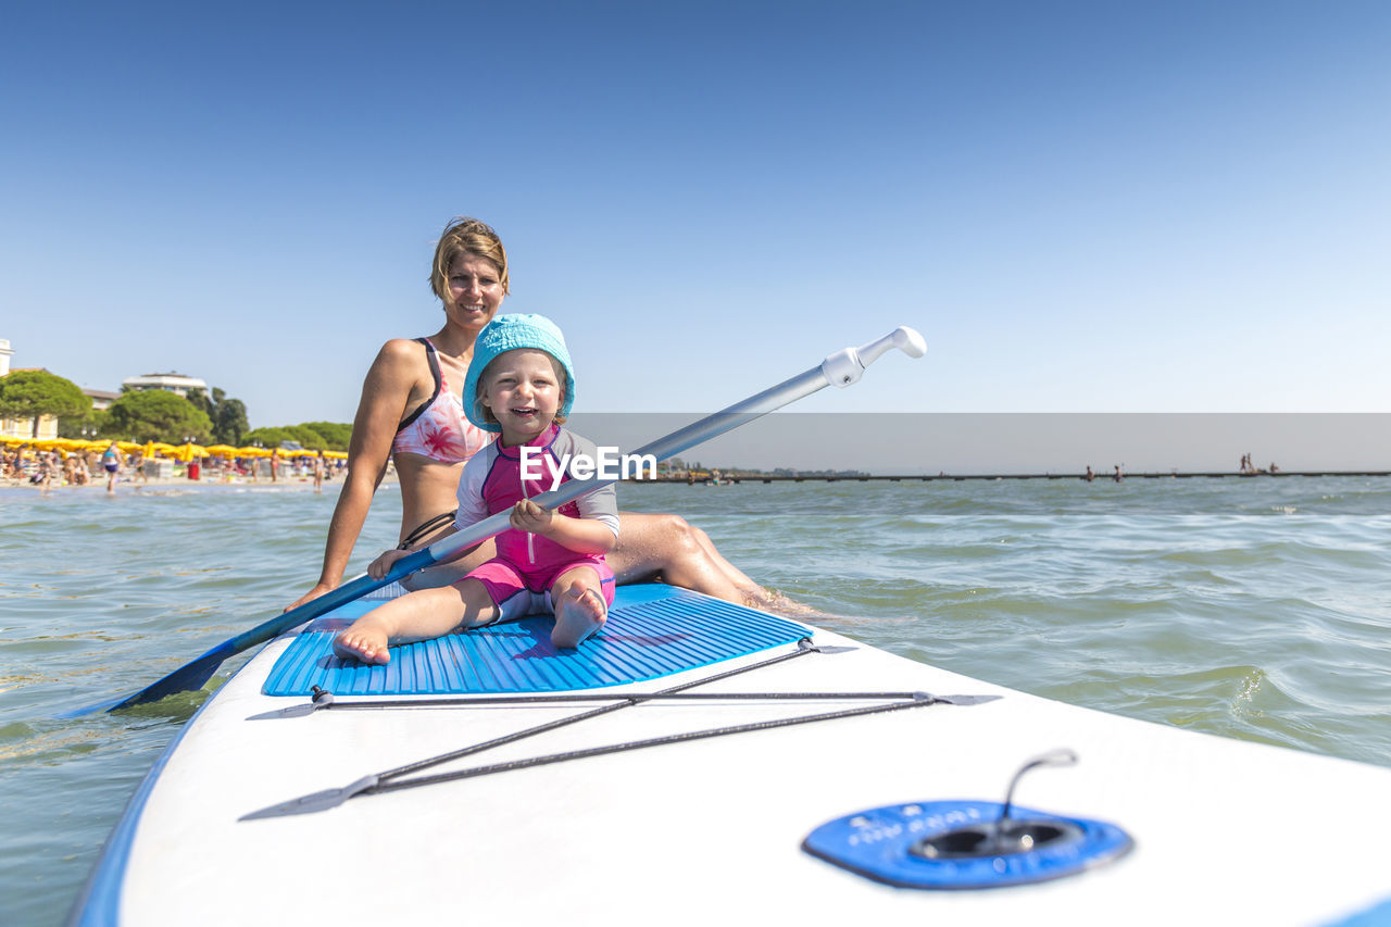
M 458 583 L 406 593 L 355 621 L 334 640 L 339 657 L 387 663 L 388 644 L 545 610 L 555 614 L 556 647 L 577 647 L 604 625 L 613 601 L 613 572 L 604 554 L 618 540 L 612 484 L 556 511 L 530 498 L 551 487 L 561 461 L 598 457 L 590 441 L 559 427 L 574 401 L 561 330 L 542 316 L 497 316 L 474 342 L 463 395 L 469 420 L 501 437 L 465 465 L 455 526 L 462 530 L 512 509 L 512 528 L 498 534 L 498 555 Z M 385 576 L 406 553 L 388 550 L 369 575 Z

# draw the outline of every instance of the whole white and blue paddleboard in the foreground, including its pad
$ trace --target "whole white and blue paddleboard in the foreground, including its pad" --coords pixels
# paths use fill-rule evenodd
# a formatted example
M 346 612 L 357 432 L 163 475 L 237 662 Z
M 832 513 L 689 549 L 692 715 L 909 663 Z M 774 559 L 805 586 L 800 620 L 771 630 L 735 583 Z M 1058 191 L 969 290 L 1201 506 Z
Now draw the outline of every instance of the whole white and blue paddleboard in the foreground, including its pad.
M 267 644 L 139 786 L 75 924 L 1385 924 L 1391 770 L 1127 720 L 666 586 Z M 1022 771 L 1022 775 L 1017 775 Z

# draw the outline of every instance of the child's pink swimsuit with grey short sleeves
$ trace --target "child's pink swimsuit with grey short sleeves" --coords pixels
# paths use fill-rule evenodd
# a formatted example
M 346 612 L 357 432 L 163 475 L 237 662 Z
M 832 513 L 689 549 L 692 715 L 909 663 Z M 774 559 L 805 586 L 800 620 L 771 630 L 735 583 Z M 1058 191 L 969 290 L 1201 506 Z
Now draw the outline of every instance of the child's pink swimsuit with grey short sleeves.
M 455 523 L 460 530 L 481 522 L 488 515 L 509 511 L 523 498 L 540 496 L 551 489 L 562 462 L 573 461 L 584 454 L 591 461 L 598 459 L 593 441 L 581 438 L 552 425 L 527 447 L 542 448 L 542 454 L 530 454 L 533 470 L 540 469 L 541 477 L 522 479 L 520 447 L 502 447 L 502 441 L 487 445 L 463 465 L 459 479 L 459 512 Z M 537 459 L 540 457 L 540 459 Z M 562 483 L 570 482 L 566 472 Z M 618 494 L 612 483 L 580 498 L 566 502 L 558 509 L 570 518 L 593 518 L 604 522 L 618 537 Z M 554 575 L 562 564 L 604 562 L 598 554 L 579 554 L 556 544 L 548 537 L 529 534 L 509 528 L 497 537 L 498 558 L 510 562 L 523 575 Z

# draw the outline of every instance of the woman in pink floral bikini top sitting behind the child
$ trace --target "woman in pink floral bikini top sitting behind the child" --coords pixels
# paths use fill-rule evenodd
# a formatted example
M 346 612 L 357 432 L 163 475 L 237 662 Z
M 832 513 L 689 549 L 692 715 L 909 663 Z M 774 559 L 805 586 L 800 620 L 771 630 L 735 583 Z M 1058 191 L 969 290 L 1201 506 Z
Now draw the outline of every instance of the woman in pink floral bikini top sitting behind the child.
M 455 390 L 463 386 L 474 338 L 509 291 L 508 256 L 497 232 L 476 219 L 451 221 L 435 248 L 430 287 L 444 303 L 444 327 L 428 338 L 388 341 L 369 367 L 323 571 L 289 608 L 342 582 L 388 459 L 395 459 L 401 482 L 401 547 L 415 550 L 451 529 L 463 464 L 492 440 L 469 423 Z M 453 582 L 490 557 L 491 541 L 467 558 L 413 576 L 410 585 Z M 791 604 L 759 587 L 715 550 L 705 532 L 676 515 L 619 512 L 618 546 L 608 562 L 619 583 L 659 578 L 726 601 L 783 610 Z

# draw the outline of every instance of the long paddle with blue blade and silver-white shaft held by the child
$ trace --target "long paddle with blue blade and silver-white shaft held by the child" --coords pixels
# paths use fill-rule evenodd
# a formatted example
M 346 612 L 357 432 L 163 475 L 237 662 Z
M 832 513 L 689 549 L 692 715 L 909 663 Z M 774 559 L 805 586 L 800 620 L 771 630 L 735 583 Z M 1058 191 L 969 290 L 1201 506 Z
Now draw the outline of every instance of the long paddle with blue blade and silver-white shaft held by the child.
M 822 387 L 847 387 L 860 380 L 867 366 L 893 348 L 899 348 L 910 358 L 921 358 L 926 354 L 926 345 L 922 341 L 922 335 L 912 328 L 894 328 L 885 337 L 871 341 L 860 348 L 844 348 L 837 351 L 822 360 L 821 365 L 807 370 L 805 373 L 769 390 L 764 390 L 757 395 L 751 395 L 743 402 L 736 402 L 721 412 L 708 415 L 698 422 L 693 422 L 680 430 L 672 431 L 666 437 L 658 438 L 651 444 L 633 451 L 633 454 L 637 457 L 651 454 L 658 461 L 664 461 L 669 457 L 682 454 L 702 441 L 708 441 L 718 434 L 737 429 L 740 425 L 746 425 L 747 422 L 772 412 L 773 409 L 779 409 L 803 397 L 811 395 Z M 570 480 L 558 490 L 534 497 L 533 501 L 542 508 L 556 508 L 579 498 L 586 493 L 616 482 L 616 479 Z M 391 566 L 391 572 L 381 579 L 371 579 L 367 575 L 356 576 L 345 582 L 338 589 L 324 593 L 313 601 L 307 601 L 298 608 L 291 608 L 267 622 L 256 625 L 250 631 L 239 633 L 230 640 L 224 640 L 202 657 L 179 667 L 174 672 L 140 689 L 135 695 L 79 708 L 65 717 L 77 717 L 102 710 L 115 711 L 117 708 L 128 708 L 145 702 L 154 702 L 178 692 L 193 692 L 202 689 L 203 683 L 213 676 L 217 667 L 220 667 L 228 657 L 255 647 L 259 643 L 264 643 L 271 637 L 275 637 L 306 621 L 317 618 L 319 615 L 330 612 L 345 603 L 360 599 L 374 589 L 381 589 L 383 586 L 409 576 L 417 569 L 424 569 L 433 564 L 452 560 L 462 551 L 505 532 L 510 525 L 510 512 L 498 512 L 497 515 L 485 518 L 467 530 L 449 534 L 428 547 L 423 547 L 421 550 L 402 557 Z

